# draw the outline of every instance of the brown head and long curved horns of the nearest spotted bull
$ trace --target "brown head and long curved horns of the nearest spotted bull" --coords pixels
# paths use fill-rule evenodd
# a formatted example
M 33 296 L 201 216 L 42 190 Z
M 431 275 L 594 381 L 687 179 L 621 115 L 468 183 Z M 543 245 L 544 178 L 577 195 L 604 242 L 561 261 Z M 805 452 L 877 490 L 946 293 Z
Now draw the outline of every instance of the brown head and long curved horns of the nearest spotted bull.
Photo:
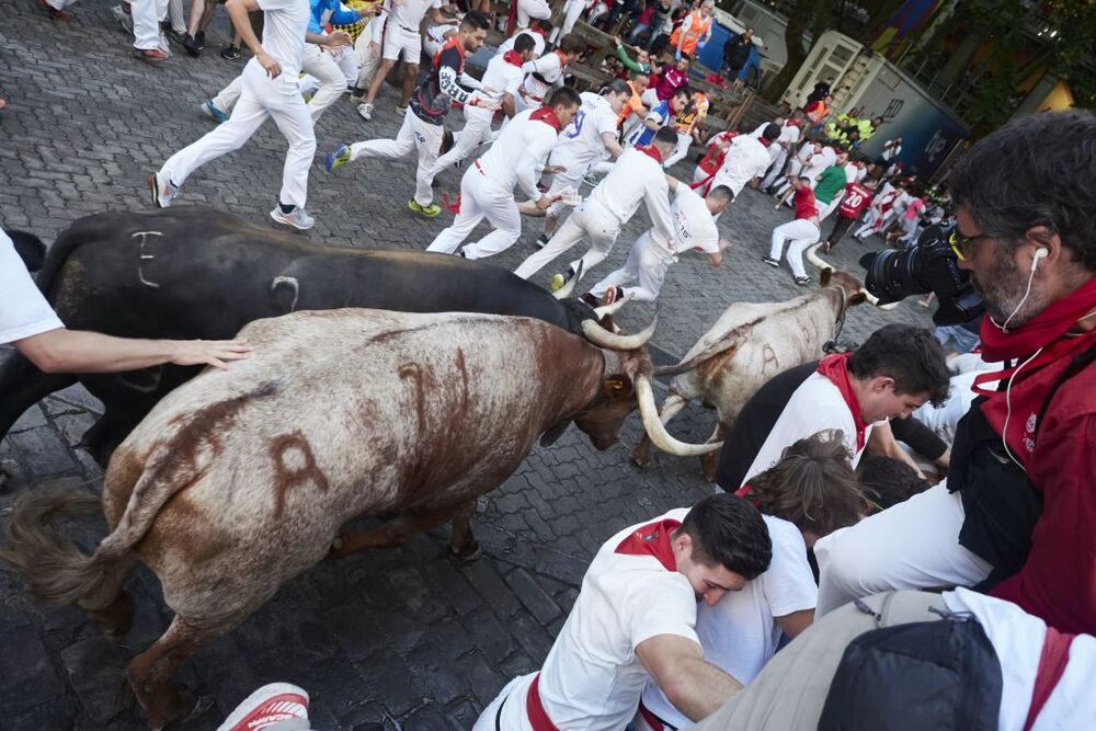
M 719 449 L 722 443 L 686 444 L 666 432 L 654 403 L 651 378 L 654 366 L 643 345 L 654 334 L 658 318 L 635 335 L 614 332 L 613 316 L 601 321 L 585 320 L 586 339 L 600 345 L 605 355 L 605 375 L 597 399 L 586 411 L 574 416 L 575 425 L 590 437 L 596 449 L 608 449 L 620 438 L 620 427 L 628 414 L 639 407 L 643 429 L 658 448 L 682 457 L 699 456 Z

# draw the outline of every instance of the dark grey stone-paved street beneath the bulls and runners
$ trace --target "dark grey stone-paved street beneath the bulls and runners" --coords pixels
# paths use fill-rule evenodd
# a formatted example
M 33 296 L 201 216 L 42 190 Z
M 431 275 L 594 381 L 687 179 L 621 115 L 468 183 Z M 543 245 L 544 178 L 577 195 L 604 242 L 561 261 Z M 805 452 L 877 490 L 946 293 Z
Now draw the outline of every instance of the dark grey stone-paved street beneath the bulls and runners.
M 118 31 L 107 4 L 84 0 L 70 10 L 75 21 L 57 24 L 33 0 L 0 0 L 5 19 L 0 68 L 8 70 L 3 85 L 10 95 L 0 113 L 0 222 L 32 230 L 46 242 L 81 216 L 146 208 L 147 174 L 210 128 L 197 104 L 242 67 L 217 56 L 227 37 L 219 12 L 201 59 L 176 56 L 151 68 L 129 57 L 132 38 Z M 412 160 L 365 161 L 334 175 L 322 169 L 323 156 L 341 141 L 395 135 L 395 105 L 393 91 L 386 89 L 370 124 L 345 103 L 320 121 L 308 205 L 318 222 L 310 240 L 421 250 L 447 224 L 448 213 L 425 220 L 407 210 Z M 459 122 L 454 115 L 450 126 Z M 196 172 L 183 201 L 272 226 L 266 212 L 277 194 L 284 149 L 269 125 L 240 151 Z M 687 178 L 690 169 L 682 164 L 674 172 Z M 439 193 L 455 197 L 459 173 L 441 181 Z M 758 261 L 772 228 L 789 217 L 747 190 L 720 224 L 735 242 L 723 265 L 710 270 L 701 258 L 685 255 L 671 271 L 659 310 L 659 347 L 681 355 L 732 301 L 800 294 L 787 270 Z M 640 214 L 592 276 L 619 265 L 644 226 Z M 498 263 L 516 265 L 532 251 L 538 229 L 528 222 L 522 242 Z M 845 241 L 836 262 L 859 273 L 854 259 L 861 251 Z M 652 312 L 635 306 L 623 324 L 641 327 Z M 865 306 L 849 315 L 845 338 L 863 341 L 889 321 L 928 323 L 927 313 L 909 304 L 892 312 Z M 0 521 L 21 491 L 45 482 L 96 489 L 100 471 L 76 445 L 99 410 L 75 387 L 23 416 L 0 443 L 0 461 L 10 476 L 0 488 Z M 683 438 L 699 441 L 710 433 L 712 418 L 694 408 L 673 427 Z M 621 444 L 604 453 L 575 430 L 550 449 L 537 447 L 480 501 L 475 529 L 483 557 L 477 562 L 448 558 L 442 530 L 399 550 L 326 561 L 305 572 L 184 665 L 181 679 L 213 700 L 185 728 L 214 728 L 254 687 L 271 681 L 297 683 L 311 693 L 318 729 L 470 728 L 509 677 L 539 665 L 602 540 L 710 490 L 694 460 L 655 454 L 647 470 L 635 468 L 628 449 L 639 433 L 632 418 Z M 72 534 L 90 546 L 103 530 L 81 524 Z M 129 587 L 137 620 L 116 647 L 80 612 L 35 606 L 22 582 L 0 569 L 0 727 L 142 728 L 124 693 L 124 667 L 167 627 L 170 612 L 147 570 L 138 571 Z

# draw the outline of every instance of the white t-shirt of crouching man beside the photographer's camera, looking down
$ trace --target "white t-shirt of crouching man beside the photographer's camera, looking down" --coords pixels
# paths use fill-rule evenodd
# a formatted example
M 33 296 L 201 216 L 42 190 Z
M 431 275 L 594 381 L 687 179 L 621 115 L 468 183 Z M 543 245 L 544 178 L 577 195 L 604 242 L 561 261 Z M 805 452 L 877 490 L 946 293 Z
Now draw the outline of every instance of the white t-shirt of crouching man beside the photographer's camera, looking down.
M 853 412 L 833 381 L 820 373 L 812 373 L 788 399 L 788 406 L 784 407 L 773 431 L 765 437 L 765 444 L 746 470 L 742 484 L 780 461 L 784 450 L 799 439 L 829 429 L 840 429 L 845 435 L 845 446 L 853 453 L 853 469 L 856 469 L 864 449 L 856 448 Z M 870 435 L 871 424 L 868 424 L 864 434 L 865 444 Z

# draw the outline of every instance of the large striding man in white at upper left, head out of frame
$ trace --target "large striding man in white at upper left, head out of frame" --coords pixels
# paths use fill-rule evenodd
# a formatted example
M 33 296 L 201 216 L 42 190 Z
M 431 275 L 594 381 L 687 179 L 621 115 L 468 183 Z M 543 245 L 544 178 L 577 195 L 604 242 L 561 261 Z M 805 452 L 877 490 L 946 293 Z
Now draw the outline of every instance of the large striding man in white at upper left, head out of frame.
M 270 117 L 289 142 L 282 172 L 282 192 L 271 218 L 298 229 L 316 222 L 305 213 L 308 168 L 316 153 L 312 117 L 297 85 L 305 32 L 310 16 L 305 0 L 228 0 L 232 25 L 254 58 L 240 75 L 240 101 L 225 124 L 171 156 L 159 172 L 149 175 L 152 204 L 167 208 L 192 172 L 206 162 L 239 149 Z M 259 43 L 248 12 L 263 11 L 263 42 Z M 338 36 L 324 36 L 335 38 Z

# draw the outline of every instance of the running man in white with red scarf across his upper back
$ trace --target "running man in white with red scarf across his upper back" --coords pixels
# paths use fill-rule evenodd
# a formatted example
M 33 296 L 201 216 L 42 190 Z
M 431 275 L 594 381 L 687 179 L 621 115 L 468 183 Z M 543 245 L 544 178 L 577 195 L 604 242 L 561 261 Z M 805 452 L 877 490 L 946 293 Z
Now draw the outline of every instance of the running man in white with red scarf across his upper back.
M 514 185 L 537 210 L 555 199 L 537 189 L 537 171 L 556 145 L 559 130 L 579 111 L 579 94 L 569 87 L 552 92 L 548 104 L 522 112 L 506 125 L 491 149 L 465 171 L 460 180 L 460 210 L 453 225 L 437 235 L 426 251 L 452 254 L 486 217 L 494 228 L 460 252 L 465 259 L 483 259 L 505 251 L 522 236 L 522 215 L 514 202 Z

